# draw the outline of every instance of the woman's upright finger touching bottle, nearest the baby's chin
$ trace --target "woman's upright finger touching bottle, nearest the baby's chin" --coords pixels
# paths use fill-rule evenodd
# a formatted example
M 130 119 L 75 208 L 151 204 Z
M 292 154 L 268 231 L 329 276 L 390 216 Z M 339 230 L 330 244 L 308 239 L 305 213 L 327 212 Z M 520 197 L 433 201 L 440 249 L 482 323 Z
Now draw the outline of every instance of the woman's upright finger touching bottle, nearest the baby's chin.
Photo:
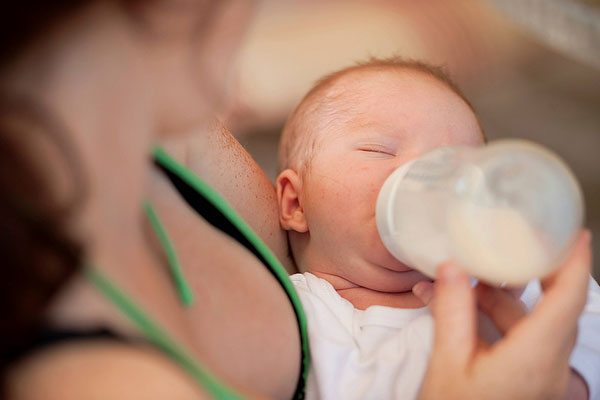
M 469 277 L 452 263 L 442 264 L 437 273 L 435 298 L 434 353 L 466 366 L 477 346 L 477 309 Z

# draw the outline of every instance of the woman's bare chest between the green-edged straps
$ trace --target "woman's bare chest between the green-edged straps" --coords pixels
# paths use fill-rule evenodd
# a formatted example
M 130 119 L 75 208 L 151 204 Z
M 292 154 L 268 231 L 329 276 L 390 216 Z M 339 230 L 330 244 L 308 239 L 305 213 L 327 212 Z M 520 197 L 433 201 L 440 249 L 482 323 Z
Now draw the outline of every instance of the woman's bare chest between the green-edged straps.
M 291 397 L 300 336 L 280 283 L 255 255 L 159 186 L 157 213 L 195 299 L 185 311 L 199 359 L 218 376 L 269 397 Z

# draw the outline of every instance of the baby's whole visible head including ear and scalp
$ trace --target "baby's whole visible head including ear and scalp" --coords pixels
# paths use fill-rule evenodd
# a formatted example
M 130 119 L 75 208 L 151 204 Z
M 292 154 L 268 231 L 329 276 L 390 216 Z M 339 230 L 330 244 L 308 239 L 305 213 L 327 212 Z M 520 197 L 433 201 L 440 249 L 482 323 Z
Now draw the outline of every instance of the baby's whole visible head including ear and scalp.
M 299 269 L 349 286 L 410 290 L 424 278 L 383 247 L 379 189 L 429 150 L 483 142 L 473 108 L 437 68 L 372 60 L 325 77 L 288 119 L 279 150 L 280 222 Z

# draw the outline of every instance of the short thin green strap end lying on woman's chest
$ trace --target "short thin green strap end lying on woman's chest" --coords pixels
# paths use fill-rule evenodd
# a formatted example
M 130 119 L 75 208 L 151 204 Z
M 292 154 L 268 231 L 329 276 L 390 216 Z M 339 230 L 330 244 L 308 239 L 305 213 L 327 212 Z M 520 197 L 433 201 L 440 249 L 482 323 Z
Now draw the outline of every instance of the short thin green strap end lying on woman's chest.
M 194 292 L 190 288 L 187 280 L 185 279 L 185 275 L 183 275 L 183 270 L 181 269 L 181 264 L 179 263 L 179 259 L 177 258 L 177 253 L 175 252 L 175 248 L 173 247 L 173 243 L 169 239 L 169 235 L 167 234 L 167 230 L 163 226 L 162 222 L 158 218 L 156 211 L 154 211 L 154 207 L 148 200 L 144 201 L 144 211 L 148 216 L 148 220 L 150 221 L 150 225 L 156 233 L 158 240 L 161 244 L 161 247 L 165 251 L 167 256 L 167 263 L 169 264 L 169 268 L 171 270 L 171 276 L 175 281 L 175 287 L 177 288 L 177 292 L 179 293 L 179 298 L 184 306 L 189 307 L 194 302 Z

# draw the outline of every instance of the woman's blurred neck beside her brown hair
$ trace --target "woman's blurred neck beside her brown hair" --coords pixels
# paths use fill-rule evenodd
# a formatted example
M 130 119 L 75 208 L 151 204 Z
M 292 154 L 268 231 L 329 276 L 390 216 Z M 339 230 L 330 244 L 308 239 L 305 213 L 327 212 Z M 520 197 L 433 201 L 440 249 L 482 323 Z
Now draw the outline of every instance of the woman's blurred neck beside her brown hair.
M 126 16 L 112 2 L 92 7 L 9 66 L 2 87 L 41 103 L 65 127 L 87 190 L 75 229 L 92 261 L 118 267 L 139 253 L 155 121 Z

